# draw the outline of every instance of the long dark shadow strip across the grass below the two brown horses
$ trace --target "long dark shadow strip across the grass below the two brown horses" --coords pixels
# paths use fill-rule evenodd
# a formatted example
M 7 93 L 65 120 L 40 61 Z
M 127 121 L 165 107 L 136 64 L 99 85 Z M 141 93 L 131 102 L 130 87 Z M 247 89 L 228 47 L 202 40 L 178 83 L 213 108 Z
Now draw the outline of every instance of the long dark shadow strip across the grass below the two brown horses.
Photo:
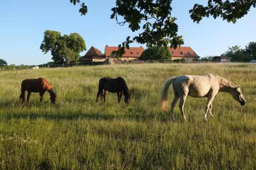
M 95 106 L 97 107 L 97 106 Z M 38 119 L 43 118 L 47 120 L 55 120 L 55 121 L 62 121 L 62 120 L 76 120 L 76 119 L 91 119 L 91 120 L 133 120 L 137 122 L 146 122 L 152 120 L 158 120 L 161 122 L 169 122 L 172 121 L 170 119 L 169 114 L 162 113 L 162 112 L 148 112 L 143 108 L 123 108 L 122 113 L 111 114 L 106 111 L 101 110 L 99 112 L 92 113 L 81 113 L 81 111 L 74 111 L 71 113 L 47 113 L 47 112 L 29 112 L 24 113 L 23 111 L 18 111 L 15 113 L 5 113 L 4 115 L 0 116 L 0 119 Z M 176 120 L 176 122 L 182 122 L 182 120 Z

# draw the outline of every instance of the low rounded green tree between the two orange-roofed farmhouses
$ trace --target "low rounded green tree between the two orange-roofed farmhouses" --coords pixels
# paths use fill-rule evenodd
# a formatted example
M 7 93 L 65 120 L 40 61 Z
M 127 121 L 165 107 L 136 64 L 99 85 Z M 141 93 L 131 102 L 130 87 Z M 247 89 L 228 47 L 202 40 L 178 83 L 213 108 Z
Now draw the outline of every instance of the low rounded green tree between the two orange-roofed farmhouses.
M 168 47 L 153 46 L 152 48 L 145 49 L 139 59 L 172 59 L 172 54 Z

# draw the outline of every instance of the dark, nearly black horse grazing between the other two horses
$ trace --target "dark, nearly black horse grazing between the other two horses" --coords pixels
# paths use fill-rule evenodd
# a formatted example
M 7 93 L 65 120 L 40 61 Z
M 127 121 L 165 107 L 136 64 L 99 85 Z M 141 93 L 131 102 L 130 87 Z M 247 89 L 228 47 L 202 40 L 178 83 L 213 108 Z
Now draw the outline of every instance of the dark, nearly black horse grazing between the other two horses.
M 105 97 L 108 91 L 111 93 L 117 93 L 119 103 L 121 101 L 122 94 L 124 94 L 125 96 L 126 105 L 129 105 L 129 103 L 131 102 L 131 94 L 129 93 L 125 80 L 122 77 L 117 77 L 116 79 L 113 79 L 111 77 L 104 77 L 99 79 L 99 91 L 97 94 L 96 102 L 98 102 L 99 95 L 101 95 L 101 97 L 104 97 L 104 102 L 106 102 Z

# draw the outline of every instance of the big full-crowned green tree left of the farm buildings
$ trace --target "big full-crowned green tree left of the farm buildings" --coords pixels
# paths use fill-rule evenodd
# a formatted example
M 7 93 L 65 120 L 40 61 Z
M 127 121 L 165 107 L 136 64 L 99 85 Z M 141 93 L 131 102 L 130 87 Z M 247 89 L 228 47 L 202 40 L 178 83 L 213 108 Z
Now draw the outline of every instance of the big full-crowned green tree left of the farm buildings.
M 61 36 L 58 31 L 46 30 L 40 49 L 44 54 L 51 51 L 52 60 L 55 63 L 64 63 L 64 60 L 66 63 L 70 63 L 79 60 L 79 53 L 86 50 L 86 45 L 78 33 Z

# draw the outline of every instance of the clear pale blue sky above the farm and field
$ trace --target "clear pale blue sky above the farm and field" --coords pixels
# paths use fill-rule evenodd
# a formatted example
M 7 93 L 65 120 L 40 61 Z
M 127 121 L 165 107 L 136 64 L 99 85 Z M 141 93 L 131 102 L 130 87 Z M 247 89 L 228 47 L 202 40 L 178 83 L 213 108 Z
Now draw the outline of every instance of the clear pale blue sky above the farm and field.
M 79 6 L 73 6 L 70 0 L 0 0 L 0 58 L 16 65 L 52 61 L 50 53 L 44 54 L 39 49 L 47 29 L 60 31 L 62 35 L 77 32 L 84 38 L 87 50 L 93 45 L 102 53 L 105 45 L 117 46 L 129 35 L 138 34 L 128 25 L 119 26 L 110 19 L 115 0 L 81 1 L 88 6 L 86 16 L 81 16 Z M 190 46 L 199 56 L 220 55 L 229 46 L 244 47 L 256 41 L 255 8 L 236 24 L 212 17 L 197 24 L 189 17 L 189 9 L 195 3 L 206 4 L 207 0 L 173 0 L 172 17 L 177 18 L 183 46 Z

